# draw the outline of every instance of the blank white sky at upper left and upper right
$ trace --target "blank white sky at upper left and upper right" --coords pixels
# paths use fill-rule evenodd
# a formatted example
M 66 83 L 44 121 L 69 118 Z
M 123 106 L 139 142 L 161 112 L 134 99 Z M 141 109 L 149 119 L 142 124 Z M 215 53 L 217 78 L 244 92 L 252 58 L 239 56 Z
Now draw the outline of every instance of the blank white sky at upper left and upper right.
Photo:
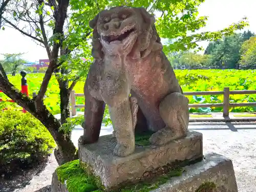
M 256 33 L 256 0 L 206 0 L 199 7 L 199 16 L 208 16 L 206 28 L 200 31 L 216 31 L 237 23 L 244 16 L 248 17 L 249 29 Z M 200 46 L 206 48 L 207 42 L 201 42 Z M 29 61 L 47 59 L 45 48 L 42 48 L 31 38 L 23 36 L 18 31 L 6 28 L 0 31 L 1 53 L 26 53 L 24 58 Z M 3 56 L 0 55 L 0 59 Z

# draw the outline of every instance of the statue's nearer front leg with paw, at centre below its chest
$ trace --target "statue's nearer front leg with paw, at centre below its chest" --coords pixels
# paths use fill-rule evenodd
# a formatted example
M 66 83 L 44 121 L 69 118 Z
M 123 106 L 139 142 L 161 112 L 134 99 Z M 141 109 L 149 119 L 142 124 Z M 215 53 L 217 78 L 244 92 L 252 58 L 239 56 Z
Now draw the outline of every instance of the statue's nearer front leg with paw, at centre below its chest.
M 129 99 L 130 86 L 124 75 L 106 80 L 104 84 L 105 89 L 102 92 L 102 98 L 109 105 L 117 139 L 114 154 L 125 157 L 135 150 L 134 126 Z

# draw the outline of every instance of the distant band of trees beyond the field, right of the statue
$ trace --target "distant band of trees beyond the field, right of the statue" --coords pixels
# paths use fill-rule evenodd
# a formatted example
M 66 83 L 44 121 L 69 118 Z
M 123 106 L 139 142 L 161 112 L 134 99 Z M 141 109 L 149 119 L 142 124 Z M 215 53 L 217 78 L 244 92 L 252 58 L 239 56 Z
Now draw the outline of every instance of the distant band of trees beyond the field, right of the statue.
M 251 31 L 234 33 L 209 42 L 204 54 L 175 52 L 168 55 L 175 69 L 254 69 L 256 67 L 256 36 Z

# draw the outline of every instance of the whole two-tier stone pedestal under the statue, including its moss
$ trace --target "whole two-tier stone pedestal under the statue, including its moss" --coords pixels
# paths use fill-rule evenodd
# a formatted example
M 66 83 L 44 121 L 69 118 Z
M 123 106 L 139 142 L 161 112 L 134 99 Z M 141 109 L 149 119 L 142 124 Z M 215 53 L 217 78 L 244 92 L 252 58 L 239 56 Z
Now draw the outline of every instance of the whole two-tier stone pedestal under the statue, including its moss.
M 70 192 L 68 188 L 75 191 L 81 187 L 77 185 L 106 192 L 120 188 L 124 192 L 238 192 L 231 160 L 214 153 L 203 157 L 199 132 L 189 131 L 186 137 L 161 146 L 138 145 L 127 157 L 114 156 L 115 145 L 111 135 L 100 137 L 94 144 L 79 145 L 79 160 L 70 162 L 76 163 L 74 173 L 69 163 L 60 166 L 60 170 L 67 168 L 68 177 L 63 179 L 55 172 L 51 192 Z M 91 183 L 89 176 L 93 178 Z M 86 179 L 80 182 L 83 177 Z

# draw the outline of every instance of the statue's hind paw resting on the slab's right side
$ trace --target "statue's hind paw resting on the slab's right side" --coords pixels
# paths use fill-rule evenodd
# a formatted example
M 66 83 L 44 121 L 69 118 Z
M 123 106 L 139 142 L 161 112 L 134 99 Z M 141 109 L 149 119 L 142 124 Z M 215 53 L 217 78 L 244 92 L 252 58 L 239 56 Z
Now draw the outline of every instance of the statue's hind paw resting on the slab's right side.
M 152 134 L 150 142 L 153 145 L 163 145 L 169 141 L 181 138 L 184 136 L 181 131 L 174 131 L 169 127 L 159 130 L 158 132 Z

